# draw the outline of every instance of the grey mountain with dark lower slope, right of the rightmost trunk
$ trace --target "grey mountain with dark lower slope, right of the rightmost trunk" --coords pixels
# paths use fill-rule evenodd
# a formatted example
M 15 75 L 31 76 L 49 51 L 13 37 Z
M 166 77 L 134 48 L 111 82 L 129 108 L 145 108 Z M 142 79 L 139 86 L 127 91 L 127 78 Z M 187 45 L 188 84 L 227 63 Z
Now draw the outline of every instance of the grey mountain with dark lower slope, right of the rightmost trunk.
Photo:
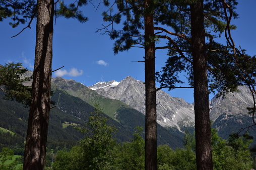
M 210 118 L 213 127 L 218 129 L 219 136 L 227 139 L 229 134 L 238 132 L 241 128 L 252 125 L 252 116 L 248 114 L 246 107 L 252 107 L 253 100 L 247 86 L 239 86 L 240 92 L 228 93 L 225 97 L 214 97 L 210 102 Z M 247 130 L 247 129 L 245 129 Z M 243 134 L 243 131 L 241 134 Z M 248 129 L 249 135 L 254 136 L 256 131 Z

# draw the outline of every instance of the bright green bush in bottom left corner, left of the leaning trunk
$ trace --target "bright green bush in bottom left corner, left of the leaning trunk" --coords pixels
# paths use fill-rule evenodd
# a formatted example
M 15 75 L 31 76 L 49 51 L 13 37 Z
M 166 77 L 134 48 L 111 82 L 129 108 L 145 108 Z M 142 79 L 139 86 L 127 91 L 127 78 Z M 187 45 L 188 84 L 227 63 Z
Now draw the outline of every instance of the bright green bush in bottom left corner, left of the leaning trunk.
M 9 170 L 14 169 L 15 166 L 19 163 L 18 159 L 13 161 L 14 152 L 11 149 L 8 149 L 7 147 L 4 147 L 2 149 L 2 152 L 0 153 L 0 169 L 2 170 Z M 20 167 L 19 169 L 21 169 Z

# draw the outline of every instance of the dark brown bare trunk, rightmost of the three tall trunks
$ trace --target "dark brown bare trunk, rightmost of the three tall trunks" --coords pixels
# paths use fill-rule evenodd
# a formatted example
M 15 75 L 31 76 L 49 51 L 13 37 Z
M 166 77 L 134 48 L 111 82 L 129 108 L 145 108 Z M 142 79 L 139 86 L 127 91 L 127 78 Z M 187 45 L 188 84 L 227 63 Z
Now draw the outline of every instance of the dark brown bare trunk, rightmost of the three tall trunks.
M 203 0 L 191 9 L 197 169 L 213 169 Z

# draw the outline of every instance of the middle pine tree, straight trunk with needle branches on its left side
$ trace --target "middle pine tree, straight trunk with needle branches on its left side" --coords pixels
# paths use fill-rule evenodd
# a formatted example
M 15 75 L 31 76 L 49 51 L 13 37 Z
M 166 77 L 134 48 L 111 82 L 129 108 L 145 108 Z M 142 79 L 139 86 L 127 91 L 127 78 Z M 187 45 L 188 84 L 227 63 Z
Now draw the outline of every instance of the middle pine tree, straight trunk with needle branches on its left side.
M 111 15 L 112 9 L 103 13 L 104 21 L 119 24 L 121 16 L 125 22 L 122 30 L 104 29 L 111 39 L 117 39 L 113 51 L 129 50 L 134 45 L 145 49 L 145 87 L 146 87 L 146 120 L 145 120 L 145 169 L 157 169 L 157 136 L 156 136 L 156 89 L 155 89 L 155 39 L 154 8 L 155 2 L 116 1 L 118 13 Z M 141 31 L 144 33 L 141 34 Z M 102 31 L 102 30 L 99 30 Z M 134 38 L 135 37 L 135 38 Z

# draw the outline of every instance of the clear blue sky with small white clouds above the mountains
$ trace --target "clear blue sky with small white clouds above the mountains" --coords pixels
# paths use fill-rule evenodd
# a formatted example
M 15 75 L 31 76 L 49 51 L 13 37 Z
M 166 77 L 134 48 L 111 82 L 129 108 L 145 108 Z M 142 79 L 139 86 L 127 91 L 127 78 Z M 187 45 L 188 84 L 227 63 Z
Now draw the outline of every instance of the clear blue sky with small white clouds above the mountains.
M 66 2 L 66 1 L 65 1 Z M 67 1 L 68 2 L 68 1 Z M 237 13 L 239 19 L 232 20 L 237 26 L 232 31 L 232 37 L 236 47 L 241 46 L 247 50 L 247 54 L 255 55 L 256 48 L 256 1 L 238 0 Z M 91 4 L 83 8 L 85 16 L 89 21 L 85 24 L 78 23 L 73 19 L 57 18 L 53 31 L 53 60 L 52 70 L 65 66 L 59 72 L 53 73 L 52 77 L 62 76 L 73 79 L 86 86 L 91 86 L 98 81 L 120 81 L 126 76 L 132 76 L 137 80 L 145 80 L 144 63 L 133 62 L 143 60 L 144 49 L 133 48 L 129 52 L 113 54 L 113 41 L 107 35 L 95 33 L 97 29 L 106 24 L 102 20 L 99 8 L 96 12 Z M 9 21 L 0 23 L 0 64 L 8 62 L 21 62 L 24 67 L 33 70 L 34 51 L 36 40 L 36 23 L 31 24 L 32 29 L 26 29 L 19 36 L 11 38 L 19 33 L 26 25 L 20 25 L 13 29 Z M 218 39 L 225 43 L 224 37 Z M 165 44 L 162 41 L 161 44 Z M 167 59 L 167 50 L 156 51 L 156 71 L 160 71 Z M 159 84 L 157 83 L 157 86 Z M 185 101 L 194 101 L 193 89 L 174 89 L 168 91 L 172 97 L 181 97 Z M 210 95 L 210 100 L 213 94 Z

